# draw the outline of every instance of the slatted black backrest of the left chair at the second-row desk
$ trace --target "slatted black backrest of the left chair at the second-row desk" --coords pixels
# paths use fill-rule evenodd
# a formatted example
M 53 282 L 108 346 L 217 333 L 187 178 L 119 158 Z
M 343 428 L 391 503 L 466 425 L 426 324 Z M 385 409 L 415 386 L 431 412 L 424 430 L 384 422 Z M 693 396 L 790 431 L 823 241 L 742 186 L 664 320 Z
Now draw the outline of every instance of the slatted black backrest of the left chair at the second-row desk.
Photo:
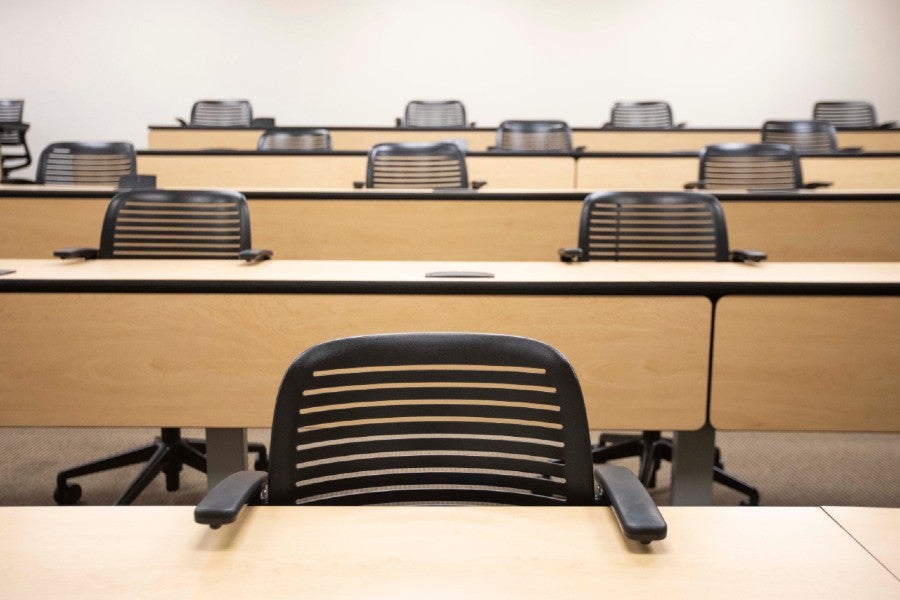
M 237 259 L 250 248 L 243 194 L 228 190 L 133 190 L 106 211 L 100 258 Z

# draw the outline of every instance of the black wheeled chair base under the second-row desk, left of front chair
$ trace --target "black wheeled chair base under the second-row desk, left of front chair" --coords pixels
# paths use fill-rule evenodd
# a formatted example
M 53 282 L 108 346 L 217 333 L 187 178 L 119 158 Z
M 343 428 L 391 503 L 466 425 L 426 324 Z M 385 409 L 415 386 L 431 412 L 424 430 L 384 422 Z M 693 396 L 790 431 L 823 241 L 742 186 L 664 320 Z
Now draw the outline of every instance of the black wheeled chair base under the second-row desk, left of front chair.
M 258 455 L 255 468 L 268 468 L 263 444 L 249 444 L 248 450 Z M 57 504 L 75 504 L 81 498 L 81 486 L 69 484 L 69 479 L 143 462 L 147 464 L 116 500 L 117 506 L 131 504 L 160 473 L 166 475 L 166 490 L 174 492 L 181 485 L 179 474 L 185 465 L 206 473 L 205 452 L 205 440 L 182 438 L 180 429 L 164 427 L 161 436 L 150 444 L 61 471 L 56 477 L 53 499 Z

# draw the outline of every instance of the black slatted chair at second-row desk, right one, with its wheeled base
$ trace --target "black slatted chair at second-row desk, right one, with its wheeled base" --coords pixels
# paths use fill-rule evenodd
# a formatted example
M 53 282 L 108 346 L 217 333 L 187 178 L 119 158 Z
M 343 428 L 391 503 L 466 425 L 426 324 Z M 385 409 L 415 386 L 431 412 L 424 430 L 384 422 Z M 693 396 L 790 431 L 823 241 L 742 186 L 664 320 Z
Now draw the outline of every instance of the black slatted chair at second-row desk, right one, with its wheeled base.
M 560 249 L 564 262 L 591 260 L 759 261 L 752 250 L 728 250 L 725 217 L 717 198 L 696 192 L 596 192 L 584 200 L 578 247 Z M 640 436 L 602 434 L 596 463 L 640 457 L 640 480 L 656 485 L 661 460 L 672 460 L 673 443 L 659 431 Z M 716 449 L 713 479 L 759 504 L 753 486 L 725 471 Z

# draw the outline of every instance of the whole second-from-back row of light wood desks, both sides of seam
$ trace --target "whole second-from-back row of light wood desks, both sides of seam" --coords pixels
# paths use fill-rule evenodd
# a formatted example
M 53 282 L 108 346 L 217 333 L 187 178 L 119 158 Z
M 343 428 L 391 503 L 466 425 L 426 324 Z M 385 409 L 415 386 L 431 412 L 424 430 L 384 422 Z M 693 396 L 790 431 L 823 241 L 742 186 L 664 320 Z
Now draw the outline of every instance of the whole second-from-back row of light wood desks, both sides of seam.
M 366 179 L 365 152 L 141 151 L 137 170 L 161 187 L 306 187 L 350 189 Z M 836 189 L 900 188 L 900 154 L 801 158 L 806 182 Z M 470 180 L 488 189 L 681 189 L 696 181 L 699 160 L 686 154 L 469 153 Z

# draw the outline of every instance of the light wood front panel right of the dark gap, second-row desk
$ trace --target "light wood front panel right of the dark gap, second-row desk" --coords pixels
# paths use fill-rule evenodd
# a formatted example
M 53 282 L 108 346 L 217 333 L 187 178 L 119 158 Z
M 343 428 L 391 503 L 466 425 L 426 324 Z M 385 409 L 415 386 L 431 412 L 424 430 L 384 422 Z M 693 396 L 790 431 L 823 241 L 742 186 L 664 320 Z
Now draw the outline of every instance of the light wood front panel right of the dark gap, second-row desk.
M 712 425 L 900 431 L 900 299 L 771 300 L 718 302 Z

